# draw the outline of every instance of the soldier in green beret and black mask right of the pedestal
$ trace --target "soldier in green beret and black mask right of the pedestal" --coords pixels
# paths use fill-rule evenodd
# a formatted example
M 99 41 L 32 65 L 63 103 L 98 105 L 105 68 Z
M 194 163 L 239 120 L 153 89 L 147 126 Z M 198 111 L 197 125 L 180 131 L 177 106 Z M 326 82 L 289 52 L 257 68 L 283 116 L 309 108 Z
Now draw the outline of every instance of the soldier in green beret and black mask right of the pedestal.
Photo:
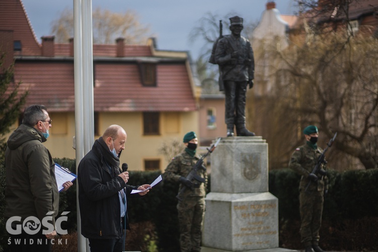
M 319 247 L 319 230 L 322 223 L 324 194 L 328 191 L 327 172 L 325 165 L 322 164 L 322 172 L 319 173 L 323 175 L 311 173 L 323 152 L 317 145 L 318 128 L 309 125 L 303 130 L 303 134 L 306 144 L 295 149 L 289 163 L 291 169 L 302 175 L 299 183 L 301 242 L 306 252 L 323 252 Z

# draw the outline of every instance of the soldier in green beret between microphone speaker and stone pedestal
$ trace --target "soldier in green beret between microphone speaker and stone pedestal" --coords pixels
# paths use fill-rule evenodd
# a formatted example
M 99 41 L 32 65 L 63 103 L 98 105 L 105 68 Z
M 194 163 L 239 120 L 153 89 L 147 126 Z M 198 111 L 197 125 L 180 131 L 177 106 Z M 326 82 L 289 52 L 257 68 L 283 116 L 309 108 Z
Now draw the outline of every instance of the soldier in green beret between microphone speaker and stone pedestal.
M 181 194 L 181 201 L 177 203 L 180 247 L 181 252 L 194 252 L 201 251 L 207 173 L 205 169 L 198 171 L 198 175 L 205 178 L 205 183 L 199 183 L 196 180 L 191 181 L 186 178 L 200 157 L 196 154 L 198 139 L 194 132 L 187 133 L 183 138 L 183 142 L 186 146 L 185 151 L 172 159 L 163 176 L 165 179 L 180 182 L 179 192 L 183 186 L 187 187 L 184 193 Z M 193 190 L 190 188 L 193 188 Z

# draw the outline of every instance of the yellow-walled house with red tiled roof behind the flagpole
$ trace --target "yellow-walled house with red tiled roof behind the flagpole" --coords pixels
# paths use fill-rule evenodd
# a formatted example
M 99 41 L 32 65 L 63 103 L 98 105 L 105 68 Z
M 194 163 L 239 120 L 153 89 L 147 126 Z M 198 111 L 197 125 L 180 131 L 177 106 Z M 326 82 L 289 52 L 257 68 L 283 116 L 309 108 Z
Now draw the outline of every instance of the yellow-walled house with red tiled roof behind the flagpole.
M 44 144 L 58 158 L 76 156 L 73 40 L 59 44 L 44 36 L 39 43 L 22 1 L 0 2 L 3 67 L 15 63 L 14 82 L 29 91 L 26 106 L 47 107 L 52 128 Z M 121 125 L 128 139 L 120 161 L 130 170 L 164 170 L 168 161 L 159 152 L 161 145 L 199 132 L 201 90 L 186 51 L 158 50 L 154 38 L 146 45 L 125 44 L 122 38 L 94 44 L 93 80 L 93 137 L 108 125 Z

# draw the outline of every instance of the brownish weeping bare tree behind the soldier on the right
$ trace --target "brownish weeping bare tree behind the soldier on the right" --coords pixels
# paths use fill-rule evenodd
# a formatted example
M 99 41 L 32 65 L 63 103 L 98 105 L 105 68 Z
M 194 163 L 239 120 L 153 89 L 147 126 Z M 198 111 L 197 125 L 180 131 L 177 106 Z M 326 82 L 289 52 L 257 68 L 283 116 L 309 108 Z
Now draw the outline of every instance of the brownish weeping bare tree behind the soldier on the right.
M 271 128 L 270 144 L 287 155 L 279 133 L 285 144 L 298 145 L 301 129 L 314 123 L 324 143 L 338 132 L 335 167 L 377 168 L 378 41 L 335 32 L 269 53 L 275 59 L 269 76 L 274 89 L 260 99 L 271 102 L 265 103 L 271 118 L 280 118 L 264 124 Z

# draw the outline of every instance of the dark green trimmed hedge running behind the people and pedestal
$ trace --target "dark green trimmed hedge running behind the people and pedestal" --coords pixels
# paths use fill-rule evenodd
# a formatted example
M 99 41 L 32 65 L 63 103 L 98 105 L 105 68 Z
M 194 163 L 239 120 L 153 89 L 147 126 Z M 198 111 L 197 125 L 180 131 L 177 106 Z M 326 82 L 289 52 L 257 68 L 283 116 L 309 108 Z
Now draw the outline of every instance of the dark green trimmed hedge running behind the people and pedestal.
M 75 160 L 54 161 L 76 173 Z M 5 229 L 5 171 L 0 160 L 0 251 L 6 249 L 8 235 Z M 129 171 L 129 184 L 152 183 L 161 171 Z M 269 172 L 269 191 L 279 200 L 280 246 L 300 249 L 299 237 L 299 175 L 290 169 Z M 80 178 L 78 178 L 80 179 Z M 209 176 L 209 181 L 211 176 Z M 378 169 L 338 172 L 329 170 L 329 191 L 325 196 L 321 242 L 327 250 L 378 250 Z M 179 250 L 177 221 L 178 185 L 161 181 L 144 197 L 129 198 L 129 218 L 133 233 L 128 236 L 127 247 L 148 247 L 155 242 L 159 251 Z M 208 192 L 210 192 L 210 183 Z M 59 212 L 70 211 L 66 223 L 69 233 L 76 232 L 76 184 L 60 193 Z M 144 223 L 144 224 L 143 224 Z M 155 229 L 145 237 L 142 226 Z M 373 226 L 373 228 L 372 228 Z M 366 234 L 365 231 L 368 230 Z M 137 234 L 136 232 L 140 232 Z M 349 234 L 349 236 L 348 236 Z M 362 235 L 361 235 L 362 234 Z M 136 239 L 132 237 L 143 237 Z M 133 239 L 133 240 L 131 240 Z M 156 239 L 156 240 L 154 240 Z M 143 249 L 142 249 L 143 250 Z

